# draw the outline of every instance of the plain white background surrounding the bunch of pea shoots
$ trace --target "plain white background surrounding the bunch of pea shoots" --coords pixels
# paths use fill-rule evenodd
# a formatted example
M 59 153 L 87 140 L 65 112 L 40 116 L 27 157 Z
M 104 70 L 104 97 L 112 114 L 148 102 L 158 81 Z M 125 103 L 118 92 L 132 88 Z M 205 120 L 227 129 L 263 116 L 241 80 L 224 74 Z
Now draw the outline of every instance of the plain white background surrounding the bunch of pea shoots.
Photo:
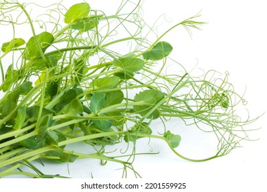
M 20 1 L 23 2 L 23 1 Z M 25 1 L 25 2 L 39 2 Z M 51 2 L 59 1 L 46 1 Z M 73 1 L 63 1 L 68 7 Z M 75 1 L 78 3 L 80 1 Z M 92 8 L 98 10 L 116 10 L 117 0 L 87 1 Z M 44 2 L 42 2 L 44 3 Z M 229 71 L 229 81 L 236 91 L 244 92 L 248 100 L 247 108 L 251 116 L 262 115 L 266 110 L 266 4 L 265 1 L 211 1 L 211 0 L 146 0 L 143 3 L 143 16 L 148 23 L 153 23 L 159 16 L 165 14 L 167 21 L 172 23 L 159 25 L 159 32 L 164 32 L 171 25 L 183 21 L 201 11 L 200 21 L 207 21 L 202 30 L 193 30 L 193 36 L 179 29 L 165 38 L 174 46 L 171 55 L 188 70 L 194 67 L 215 69 L 222 73 Z M 162 19 L 162 17 L 161 17 Z M 163 19 L 161 20 L 163 21 Z M 2 26 L 0 26 L 2 27 Z M 180 34 L 181 33 L 181 34 Z M 1 30 L 0 41 L 4 34 Z M 175 55 L 174 55 L 175 53 Z M 190 163 L 174 156 L 165 143 L 151 142 L 145 147 L 159 151 L 159 155 L 138 156 L 135 169 L 145 179 L 170 179 L 177 182 L 187 182 L 187 191 L 266 191 L 266 160 L 267 133 L 266 115 L 251 128 L 262 128 L 251 132 L 254 142 L 244 142 L 244 147 L 235 149 L 229 155 L 205 163 Z M 176 123 L 174 123 L 176 125 Z M 145 142 L 146 143 L 146 142 Z M 100 167 L 99 161 L 91 160 L 69 165 L 71 176 L 89 178 L 91 172 L 96 178 L 119 178 L 121 171 L 112 163 Z M 85 167 L 84 167 L 85 166 Z M 66 165 L 53 169 L 66 170 Z M 67 173 L 67 171 L 64 171 Z M 130 176 L 132 178 L 132 176 Z

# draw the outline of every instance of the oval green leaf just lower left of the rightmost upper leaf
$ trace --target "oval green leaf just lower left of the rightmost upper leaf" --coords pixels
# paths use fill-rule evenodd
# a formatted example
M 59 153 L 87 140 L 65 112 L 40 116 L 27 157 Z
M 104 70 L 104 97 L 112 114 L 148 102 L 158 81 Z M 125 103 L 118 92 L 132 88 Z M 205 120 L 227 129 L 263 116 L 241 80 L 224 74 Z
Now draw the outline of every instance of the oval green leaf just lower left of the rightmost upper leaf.
M 120 67 L 127 73 L 134 73 L 143 69 L 145 61 L 139 58 L 119 58 L 119 60 L 113 60 L 113 65 Z

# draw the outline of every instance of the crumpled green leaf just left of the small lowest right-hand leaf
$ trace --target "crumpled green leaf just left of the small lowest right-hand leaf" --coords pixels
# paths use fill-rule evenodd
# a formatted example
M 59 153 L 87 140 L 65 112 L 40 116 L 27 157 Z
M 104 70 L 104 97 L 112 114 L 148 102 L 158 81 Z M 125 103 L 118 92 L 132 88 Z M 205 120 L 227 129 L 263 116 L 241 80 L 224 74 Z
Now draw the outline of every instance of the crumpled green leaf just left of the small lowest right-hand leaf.
M 152 134 L 152 130 L 148 126 L 148 123 L 142 122 L 141 124 L 135 124 L 129 131 L 128 134 L 124 136 L 124 141 L 129 142 L 135 142 L 137 139 L 142 138 L 142 136 L 137 136 L 138 133 L 141 134 Z

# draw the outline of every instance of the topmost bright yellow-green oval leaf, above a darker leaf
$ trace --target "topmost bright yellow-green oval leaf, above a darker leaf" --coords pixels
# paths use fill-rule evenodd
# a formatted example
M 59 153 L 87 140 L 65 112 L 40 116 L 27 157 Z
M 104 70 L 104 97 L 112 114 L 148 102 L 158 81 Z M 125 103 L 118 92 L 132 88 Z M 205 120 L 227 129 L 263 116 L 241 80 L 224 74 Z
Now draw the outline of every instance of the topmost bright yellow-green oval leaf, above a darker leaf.
M 67 24 L 75 23 L 78 19 L 83 19 L 89 15 L 90 5 L 88 3 L 78 3 L 72 5 L 66 12 L 64 22 Z

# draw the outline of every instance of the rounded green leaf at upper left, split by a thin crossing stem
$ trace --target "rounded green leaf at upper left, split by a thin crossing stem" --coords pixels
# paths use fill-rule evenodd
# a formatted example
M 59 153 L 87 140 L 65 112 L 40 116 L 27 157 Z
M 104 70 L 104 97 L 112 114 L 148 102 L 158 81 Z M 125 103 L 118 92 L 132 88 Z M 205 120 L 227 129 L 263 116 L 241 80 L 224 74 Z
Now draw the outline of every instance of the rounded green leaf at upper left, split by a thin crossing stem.
M 36 35 L 36 40 L 37 42 L 35 41 L 34 37 L 31 37 L 26 44 L 25 56 L 27 60 L 31 60 L 40 56 L 38 46 L 40 46 L 43 53 L 45 53 L 45 50 L 54 42 L 54 36 L 49 32 L 43 32 Z

